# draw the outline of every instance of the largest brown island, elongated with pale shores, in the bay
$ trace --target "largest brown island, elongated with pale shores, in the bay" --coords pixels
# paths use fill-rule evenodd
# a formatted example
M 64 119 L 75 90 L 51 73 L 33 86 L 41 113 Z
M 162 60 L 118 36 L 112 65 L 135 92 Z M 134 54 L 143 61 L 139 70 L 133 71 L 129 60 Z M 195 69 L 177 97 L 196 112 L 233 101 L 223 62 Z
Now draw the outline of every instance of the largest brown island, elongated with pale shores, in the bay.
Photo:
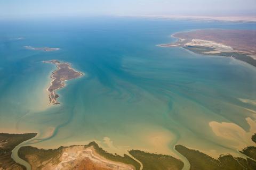
M 76 79 L 83 75 L 83 73 L 75 71 L 71 68 L 69 63 L 62 63 L 58 60 L 51 61 L 43 61 L 44 63 L 52 63 L 57 66 L 57 70 L 52 72 L 51 78 L 53 79 L 51 82 L 51 86 L 47 89 L 49 92 L 50 104 L 57 105 L 60 104 L 57 101 L 59 95 L 55 93 L 56 90 L 65 87 L 64 81 Z

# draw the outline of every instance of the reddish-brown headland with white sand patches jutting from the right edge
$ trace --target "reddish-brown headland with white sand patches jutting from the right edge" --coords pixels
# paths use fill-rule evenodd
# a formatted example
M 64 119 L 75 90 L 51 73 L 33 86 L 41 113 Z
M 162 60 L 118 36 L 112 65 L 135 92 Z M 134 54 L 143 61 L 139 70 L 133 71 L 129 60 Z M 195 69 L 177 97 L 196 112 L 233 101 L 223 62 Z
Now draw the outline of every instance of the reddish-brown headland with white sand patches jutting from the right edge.
M 256 66 L 256 31 L 203 29 L 178 32 L 172 35 L 179 40 L 160 47 L 183 47 L 198 54 L 234 57 Z

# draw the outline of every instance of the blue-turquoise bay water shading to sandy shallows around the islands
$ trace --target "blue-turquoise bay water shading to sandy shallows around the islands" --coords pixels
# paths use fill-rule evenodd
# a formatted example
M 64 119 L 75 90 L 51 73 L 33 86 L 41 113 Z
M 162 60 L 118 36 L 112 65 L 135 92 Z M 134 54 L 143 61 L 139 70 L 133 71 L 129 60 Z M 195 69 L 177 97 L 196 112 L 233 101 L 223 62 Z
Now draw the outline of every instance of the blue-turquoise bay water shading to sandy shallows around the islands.
M 156 45 L 175 41 L 170 35 L 178 31 L 256 29 L 255 23 L 86 18 L 2 21 L 0 27 L 0 129 L 38 132 L 27 145 L 97 141 L 113 153 L 141 149 L 176 157 L 177 144 L 212 156 L 239 155 L 237 149 L 251 145 L 256 68 Z M 48 104 L 46 92 L 55 67 L 42 63 L 53 59 L 85 73 L 57 92 L 58 106 Z

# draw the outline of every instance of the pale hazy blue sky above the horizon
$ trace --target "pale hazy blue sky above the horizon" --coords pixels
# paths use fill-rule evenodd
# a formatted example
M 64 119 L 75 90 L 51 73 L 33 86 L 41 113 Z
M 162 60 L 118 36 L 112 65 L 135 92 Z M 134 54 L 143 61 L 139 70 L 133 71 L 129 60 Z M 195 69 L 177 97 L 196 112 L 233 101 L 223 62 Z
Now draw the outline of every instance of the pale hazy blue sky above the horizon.
M 256 16 L 256 0 L 0 0 L 0 18 L 92 15 Z

